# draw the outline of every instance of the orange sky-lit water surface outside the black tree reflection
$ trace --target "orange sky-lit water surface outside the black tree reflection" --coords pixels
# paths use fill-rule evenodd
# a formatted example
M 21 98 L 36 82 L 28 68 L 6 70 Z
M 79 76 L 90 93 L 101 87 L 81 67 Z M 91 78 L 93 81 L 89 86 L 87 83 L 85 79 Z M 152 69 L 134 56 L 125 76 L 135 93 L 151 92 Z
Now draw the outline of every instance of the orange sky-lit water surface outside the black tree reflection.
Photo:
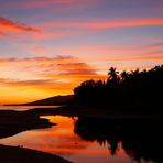
M 23 145 L 54 154 L 58 154 L 75 163 L 131 163 L 131 159 L 119 144 L 117 155 L 112 156 L 108 144 L 99 145 L 96 141 L 84 141 L 74 133 L 74 122 L 77 118 L 62 116 L 48 116 L 52 122 L 56 122 L 51 129 L 25 131 L 17 135 L 1 139 L 1 144 Z

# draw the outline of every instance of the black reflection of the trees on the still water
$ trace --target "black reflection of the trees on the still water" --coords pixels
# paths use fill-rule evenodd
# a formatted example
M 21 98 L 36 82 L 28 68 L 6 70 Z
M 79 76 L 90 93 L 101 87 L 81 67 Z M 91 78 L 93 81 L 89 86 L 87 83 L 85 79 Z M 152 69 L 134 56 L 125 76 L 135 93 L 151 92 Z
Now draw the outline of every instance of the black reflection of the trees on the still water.
M 79 117 L 74 132 L 86 141 L 97 141 L 108 145 L 111 154 L 119 151 L 119 143 L 126 153 L 137 162 L 144 160 L 163 162 L 163 120 L 148 119 L 104 119 Z

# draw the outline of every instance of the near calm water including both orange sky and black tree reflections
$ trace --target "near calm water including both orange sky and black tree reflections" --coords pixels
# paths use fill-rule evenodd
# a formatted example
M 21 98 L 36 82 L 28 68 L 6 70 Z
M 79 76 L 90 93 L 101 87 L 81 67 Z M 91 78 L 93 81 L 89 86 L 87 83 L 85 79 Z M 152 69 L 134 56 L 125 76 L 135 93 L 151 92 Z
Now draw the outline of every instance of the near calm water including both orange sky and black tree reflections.
M 17 108 L 24 109 L 29 108 Z M 163 162 L 162 121 L 117 121 L 63 116 L 43 118 L 57 126 L 0 139 L 0 144 L 23 145 L 54 153 L 74 163 Z

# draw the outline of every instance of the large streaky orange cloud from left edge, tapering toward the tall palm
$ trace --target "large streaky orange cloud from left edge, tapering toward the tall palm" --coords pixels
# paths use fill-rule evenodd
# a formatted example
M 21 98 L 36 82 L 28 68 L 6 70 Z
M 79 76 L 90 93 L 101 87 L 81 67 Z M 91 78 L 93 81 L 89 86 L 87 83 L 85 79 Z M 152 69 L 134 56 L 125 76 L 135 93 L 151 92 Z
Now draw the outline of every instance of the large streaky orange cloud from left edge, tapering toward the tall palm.
M 26 80 L 56 78 L 69 79 L 74 76 L 96 76 L 96 69 L 80 59 L 72 56 L 33 57 L 33 58 L 7 58 L 0 59 L 0 77 Z M 14 74 L 13 72 L 17 72 Z M 72 78 L 70 78 L 72 79 Z

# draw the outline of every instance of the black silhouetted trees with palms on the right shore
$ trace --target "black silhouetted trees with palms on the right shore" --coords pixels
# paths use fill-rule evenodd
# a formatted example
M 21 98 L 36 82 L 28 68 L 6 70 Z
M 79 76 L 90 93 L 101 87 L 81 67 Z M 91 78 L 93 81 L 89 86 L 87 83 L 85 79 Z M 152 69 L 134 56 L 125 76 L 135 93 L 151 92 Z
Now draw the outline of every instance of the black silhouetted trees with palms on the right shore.
M 104 108 L 162 107 L 163 65 L 150 70 L 119 72 L 111 67 L 107 80 L 86 80 L 74 89 L 82 106 Z

